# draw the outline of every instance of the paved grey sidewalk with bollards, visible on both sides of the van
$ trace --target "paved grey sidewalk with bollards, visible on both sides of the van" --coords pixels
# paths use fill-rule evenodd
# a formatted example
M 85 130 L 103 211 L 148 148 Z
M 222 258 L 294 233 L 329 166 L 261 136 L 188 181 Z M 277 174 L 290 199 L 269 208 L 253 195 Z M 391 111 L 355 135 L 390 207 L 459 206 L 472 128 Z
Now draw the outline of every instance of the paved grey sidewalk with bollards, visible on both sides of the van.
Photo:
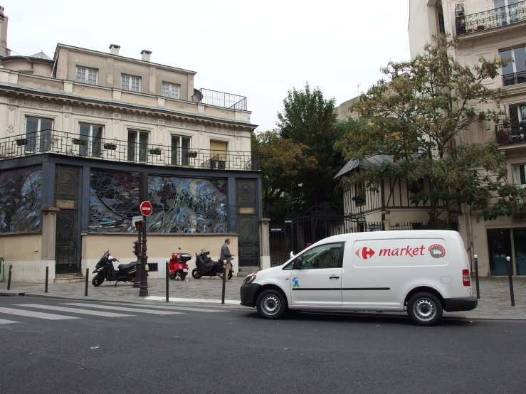
M 184 304 L 199 304 L 201 307 L 222 307 L 227 309 L 246 309 L 239 305 L 239 287 L 243 283 L 242 277 L 233 277 L 226 283 L 225 304 L 221 305 L 222 282 L 214 278 L 189 278 L 184 282 L 169 280 L 169 298 L 171 302 Z M 472 282 L 473 295 L 476 295 L 475 281 Z M 510 287 L 507 279 L 480 278 L 480 299 L 478 307 L 469 312 L 444 312 L 444 316 L 463 319 L 512 319 L 526 320 L 526 277 L 514 278 L 515 307 L 510 304 Z M 100 287 L 88 285 L 88 297 L 84 297 L 85 283 L 50 283 L 48 293 L 44 293 L 44 284 L 11 283 L 11 290 L 7 291 L 7 284 L 0 283 L 0 296 L 17 296 L 25 294 L 32 297 L 54 297 L 65 299 L 82 299 L 112 302 L 165 302 L 164 279 L 150 279 L 148 281 L 148 296 L 139 297 L 139 289 L 133 288 L 131 283 L 104 282 Z

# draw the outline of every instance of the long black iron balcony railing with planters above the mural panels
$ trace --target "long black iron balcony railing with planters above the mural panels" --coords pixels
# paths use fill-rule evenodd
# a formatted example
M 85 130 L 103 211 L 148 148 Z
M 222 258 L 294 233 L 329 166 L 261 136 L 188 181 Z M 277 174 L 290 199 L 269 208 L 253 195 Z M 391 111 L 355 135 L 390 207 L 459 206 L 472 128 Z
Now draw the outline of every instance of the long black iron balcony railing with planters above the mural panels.
M 186 149 L 41 130 L 0 139 L 0 160 L 56 153 L 92 159 L 199 169 L 258 170 L 259 156 L 246 151 Z

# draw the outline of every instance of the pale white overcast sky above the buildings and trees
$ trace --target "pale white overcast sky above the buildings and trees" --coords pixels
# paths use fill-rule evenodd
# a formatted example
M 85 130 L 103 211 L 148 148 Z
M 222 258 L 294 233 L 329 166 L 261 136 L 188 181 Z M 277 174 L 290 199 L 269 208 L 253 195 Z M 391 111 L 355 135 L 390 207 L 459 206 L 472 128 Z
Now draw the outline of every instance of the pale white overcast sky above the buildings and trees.
M 22 55 L 57 43 L 197 72 L 196 88 L 248 97 L 272 129 L 287 91 L 319 86 L 337 104 L 367 90 L 389 60 L 409 59 L 409 0 L 0 0 L 7 46 Z M 14 53 L 13 53 L 14 54 Z

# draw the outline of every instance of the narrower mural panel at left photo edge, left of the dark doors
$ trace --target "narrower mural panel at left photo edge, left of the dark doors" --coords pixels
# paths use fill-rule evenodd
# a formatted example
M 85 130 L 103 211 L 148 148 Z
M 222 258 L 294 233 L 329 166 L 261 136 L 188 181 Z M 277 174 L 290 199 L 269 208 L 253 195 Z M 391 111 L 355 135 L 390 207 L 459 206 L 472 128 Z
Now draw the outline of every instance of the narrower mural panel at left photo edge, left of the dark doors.
M 0 233 L 42 230 L 42 169 L 1 171 Z

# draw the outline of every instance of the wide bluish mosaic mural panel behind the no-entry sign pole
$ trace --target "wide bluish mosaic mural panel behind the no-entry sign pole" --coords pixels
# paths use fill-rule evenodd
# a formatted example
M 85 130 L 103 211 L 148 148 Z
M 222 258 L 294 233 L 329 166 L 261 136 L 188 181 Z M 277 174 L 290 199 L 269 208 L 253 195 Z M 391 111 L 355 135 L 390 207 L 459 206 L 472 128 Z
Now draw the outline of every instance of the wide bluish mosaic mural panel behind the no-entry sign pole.
M 130 173 L 92 169 L 90 231 L 133 233 Z M 149 176 L 149 233 L 226 233 L 226 180 Z

